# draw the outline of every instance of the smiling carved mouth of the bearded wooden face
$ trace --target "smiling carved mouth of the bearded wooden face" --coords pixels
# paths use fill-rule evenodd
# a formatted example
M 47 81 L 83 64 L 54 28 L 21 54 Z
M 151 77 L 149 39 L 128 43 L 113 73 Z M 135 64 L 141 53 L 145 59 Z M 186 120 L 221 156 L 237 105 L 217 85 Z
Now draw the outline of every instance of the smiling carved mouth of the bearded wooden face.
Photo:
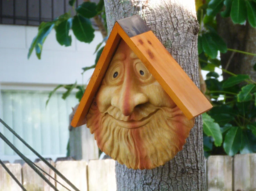
M 114 118 L 112 115 L 108 114 L 111 118 L 113 118 L 117 124 L 123 128 L 127 128 L 127 129 L 135 129 L 135 128 L 139 128 L 145 124 L 147 124 L 150 121 L 150 118 L 152 117 L 152 115 L 154 115 L 159 109 L 157 109 L 156 111 L 150 113 L 147 117 L 142 118 L 139 121 L 136 120 L 129 120 L 129 121 L 122 121 L 122 120 L 118 120 L 116 118 Z

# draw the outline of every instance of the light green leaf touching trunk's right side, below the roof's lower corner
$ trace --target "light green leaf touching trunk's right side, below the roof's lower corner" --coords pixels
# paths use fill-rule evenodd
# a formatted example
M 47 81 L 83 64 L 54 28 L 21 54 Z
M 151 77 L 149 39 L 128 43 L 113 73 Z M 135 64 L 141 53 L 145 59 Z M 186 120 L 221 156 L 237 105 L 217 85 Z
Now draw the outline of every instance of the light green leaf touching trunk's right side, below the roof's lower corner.
M 203 113 L 203 131 L 207 136 L 211 136 L 214 139 L 214 144 L 216 147 L 221 146 L 222 143 L 222 134 L 220 131 L 220 126 L 218 123 L 215 123 L 210 115 Z

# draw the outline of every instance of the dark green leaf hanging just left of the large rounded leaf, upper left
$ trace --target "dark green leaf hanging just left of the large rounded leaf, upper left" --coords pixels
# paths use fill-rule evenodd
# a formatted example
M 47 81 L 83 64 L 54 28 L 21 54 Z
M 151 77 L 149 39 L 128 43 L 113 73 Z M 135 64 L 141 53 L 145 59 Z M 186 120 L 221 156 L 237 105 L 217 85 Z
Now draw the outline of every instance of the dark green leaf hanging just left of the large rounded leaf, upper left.
M 72 18 L 62 21 L 58 26 L 55 27 L 56 39 L 60 45 L 65 45 L 65 47 L 71 45 L 71 35 L 69 35 L 69 30 L 71 28 Z

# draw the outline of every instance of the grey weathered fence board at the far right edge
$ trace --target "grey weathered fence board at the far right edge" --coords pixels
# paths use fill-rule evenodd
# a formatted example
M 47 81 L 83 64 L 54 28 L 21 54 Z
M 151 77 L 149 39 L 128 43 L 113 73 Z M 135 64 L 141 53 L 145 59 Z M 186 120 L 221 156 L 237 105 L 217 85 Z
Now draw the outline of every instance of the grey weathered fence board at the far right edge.
M 234 190 L 256 190 L 256 154 L 237 154 L 234 157 Z

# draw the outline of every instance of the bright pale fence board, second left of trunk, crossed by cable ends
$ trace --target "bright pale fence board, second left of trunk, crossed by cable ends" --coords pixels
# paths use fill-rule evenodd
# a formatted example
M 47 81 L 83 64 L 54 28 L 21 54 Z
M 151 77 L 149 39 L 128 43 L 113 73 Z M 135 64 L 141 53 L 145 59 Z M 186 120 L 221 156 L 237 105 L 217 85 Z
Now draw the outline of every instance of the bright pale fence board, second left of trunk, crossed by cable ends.
M 62 173 L 80 191 L 88 191 L 86 161 L 58 161 L 56 162 L 56 169 L 59 170 L 60 173 Z M 56 179 L 70 190 L 73 190 L 58 175 L 56 175 Z M 67 191 L 67 189 L 58 183 L 56 183 L 56 188 L 60 191 Z

